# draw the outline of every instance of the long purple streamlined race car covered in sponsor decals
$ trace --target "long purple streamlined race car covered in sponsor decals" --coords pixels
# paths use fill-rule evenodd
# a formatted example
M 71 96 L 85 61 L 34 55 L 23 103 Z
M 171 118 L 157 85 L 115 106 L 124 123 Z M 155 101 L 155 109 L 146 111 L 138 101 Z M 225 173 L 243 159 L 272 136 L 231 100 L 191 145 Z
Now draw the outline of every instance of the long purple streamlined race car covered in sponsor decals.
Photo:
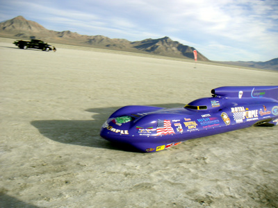
M 149 153 L 188 139 L 278 123 L 278 86 L 218 87 L 211 93 L 185 107 L 122 107 L 102 125 L 100 135 Z

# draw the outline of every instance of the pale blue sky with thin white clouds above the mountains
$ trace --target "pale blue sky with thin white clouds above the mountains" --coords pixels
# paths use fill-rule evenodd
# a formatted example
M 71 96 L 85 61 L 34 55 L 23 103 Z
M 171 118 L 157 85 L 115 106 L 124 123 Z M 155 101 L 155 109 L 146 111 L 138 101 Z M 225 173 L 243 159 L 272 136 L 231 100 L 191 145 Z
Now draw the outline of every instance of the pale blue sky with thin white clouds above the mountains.
M 167 36 L 215 61 L 278 58 L 278 0 L 0 0 L 0 21 L 19 15 L 81 35 Z

